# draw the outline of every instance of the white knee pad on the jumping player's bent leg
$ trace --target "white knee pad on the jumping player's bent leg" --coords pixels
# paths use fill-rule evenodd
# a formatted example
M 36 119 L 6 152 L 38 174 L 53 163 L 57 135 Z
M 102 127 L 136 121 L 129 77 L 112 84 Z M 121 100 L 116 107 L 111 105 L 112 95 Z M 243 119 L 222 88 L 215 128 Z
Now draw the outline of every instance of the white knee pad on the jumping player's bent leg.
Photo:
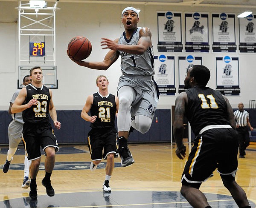
M 150 129 L 152 121 L 150 117 L 138 115 L 135 116 L 135 120 L 131 122 L 131 125 L 140 133 L 145 134 Z

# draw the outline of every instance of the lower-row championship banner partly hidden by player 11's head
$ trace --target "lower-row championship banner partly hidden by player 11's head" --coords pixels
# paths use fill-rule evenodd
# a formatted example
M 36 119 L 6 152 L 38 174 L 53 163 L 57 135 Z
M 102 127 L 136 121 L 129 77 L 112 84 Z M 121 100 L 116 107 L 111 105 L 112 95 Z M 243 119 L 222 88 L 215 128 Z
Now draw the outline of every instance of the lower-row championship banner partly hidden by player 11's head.
M 202 57 L 194 57 L 189 55 L 187 57 L 179 57 L 179 93 L 183 92 L 184 89 L 184 80 L 187 74 L 187 71 L 190 67 L 194 65 L 202 65 Z

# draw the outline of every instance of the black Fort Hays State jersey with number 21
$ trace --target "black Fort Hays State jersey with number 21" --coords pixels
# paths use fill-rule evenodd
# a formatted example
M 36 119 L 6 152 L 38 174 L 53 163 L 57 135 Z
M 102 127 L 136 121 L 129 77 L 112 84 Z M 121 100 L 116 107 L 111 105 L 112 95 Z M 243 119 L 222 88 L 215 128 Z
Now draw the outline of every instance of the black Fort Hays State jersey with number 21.
M 93 105 L 90 115 L 97 116 L 96 121 L 90 124 L 92 128 L 108 128 L 115 126 L 116 100 L 113 94 L 102 97 L 98 92 L 93 94 Z

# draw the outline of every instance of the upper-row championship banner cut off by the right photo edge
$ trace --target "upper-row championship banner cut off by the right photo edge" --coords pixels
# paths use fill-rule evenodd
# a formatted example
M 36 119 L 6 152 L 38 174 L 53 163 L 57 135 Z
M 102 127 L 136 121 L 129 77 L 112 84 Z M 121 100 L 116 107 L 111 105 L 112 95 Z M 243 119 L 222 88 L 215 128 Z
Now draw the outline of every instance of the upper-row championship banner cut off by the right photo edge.
M 256 15 L 239 18 L 239 51 L 256 53 Z

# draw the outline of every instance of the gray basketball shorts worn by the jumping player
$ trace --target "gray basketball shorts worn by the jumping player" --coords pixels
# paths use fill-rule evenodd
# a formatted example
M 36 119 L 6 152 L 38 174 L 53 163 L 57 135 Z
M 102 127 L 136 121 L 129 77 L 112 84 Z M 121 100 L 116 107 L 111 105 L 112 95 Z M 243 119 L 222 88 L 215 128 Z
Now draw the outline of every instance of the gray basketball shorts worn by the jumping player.
M 117 91 L 122 86 L 130 86 L 136 91 L 137 97 L 131 104 L 131 117 L 144 115 L 154 119 L 157 108 L 157 86 L 151 76 L 125 74 L 119 78 Z

